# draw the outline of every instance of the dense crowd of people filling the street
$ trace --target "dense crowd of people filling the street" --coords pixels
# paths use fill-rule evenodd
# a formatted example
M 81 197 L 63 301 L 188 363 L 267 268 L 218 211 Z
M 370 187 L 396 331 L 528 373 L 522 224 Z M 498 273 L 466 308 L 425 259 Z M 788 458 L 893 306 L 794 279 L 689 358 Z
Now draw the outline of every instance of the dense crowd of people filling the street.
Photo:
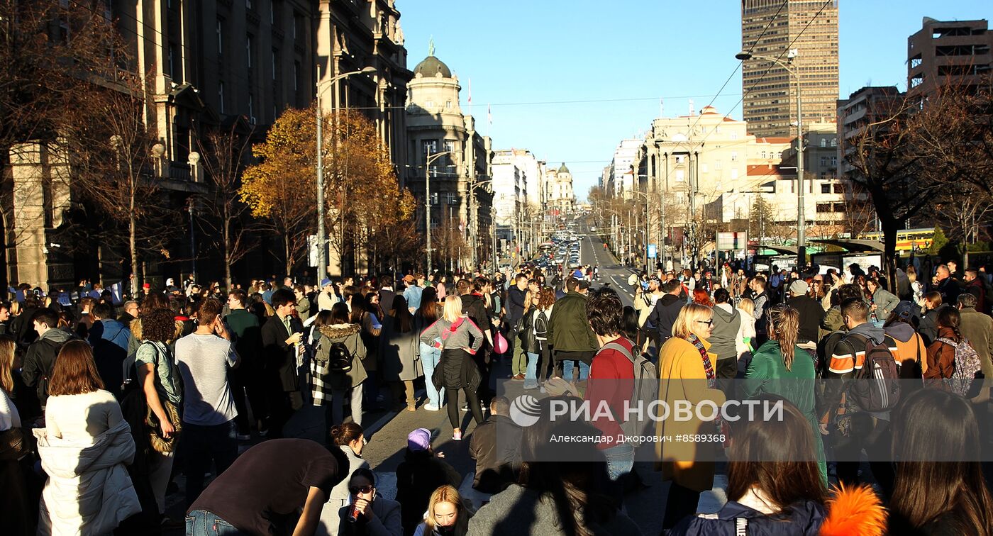
M 49 296 L 23 287 L 0 304 L 5 533 L 638 534 L 625 494 L 637 452 L 654 450 L 670 534 L 993 536 L 979 463 L 990 279 L 956 268 L 924 284 L 908 266 L 893 286 L 855 266 L 658 270 L 632 277 L 627 307 L 591 288 L 595 267 L 229 289 L 191 277 L 131 300 L 85 281 Z M 563 457 L 550 438 L 638 428 L 603 416 L 522 428 L 497 380 L 537 397 L 542 417 L 570 399 L 614 415 L 638 398 L 786 411 L 653 430 L 721 442 L 596 441 Z M 407 437 L 396 496 L 379 495 L 364 417 L 442 407 L 451 440 L 469 440 L 473 496 L 426 428 Z M 323 432 L 303 439 L 292 421 L 315 409 Z M 722 460 L 730 500 L 697 514 Z M 166 511 L 179 474 L 185 520 Z

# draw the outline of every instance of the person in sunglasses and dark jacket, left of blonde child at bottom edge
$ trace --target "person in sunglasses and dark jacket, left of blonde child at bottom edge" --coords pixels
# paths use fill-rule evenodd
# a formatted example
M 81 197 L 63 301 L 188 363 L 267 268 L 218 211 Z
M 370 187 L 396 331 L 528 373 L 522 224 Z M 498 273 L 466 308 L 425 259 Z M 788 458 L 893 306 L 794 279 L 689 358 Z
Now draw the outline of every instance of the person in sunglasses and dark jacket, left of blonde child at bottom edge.
M 339 536 L 403 536 L 400 503 L 376 493 L 371 470 L 355 469 L 349 493 L 351 501 L 339 510 Z

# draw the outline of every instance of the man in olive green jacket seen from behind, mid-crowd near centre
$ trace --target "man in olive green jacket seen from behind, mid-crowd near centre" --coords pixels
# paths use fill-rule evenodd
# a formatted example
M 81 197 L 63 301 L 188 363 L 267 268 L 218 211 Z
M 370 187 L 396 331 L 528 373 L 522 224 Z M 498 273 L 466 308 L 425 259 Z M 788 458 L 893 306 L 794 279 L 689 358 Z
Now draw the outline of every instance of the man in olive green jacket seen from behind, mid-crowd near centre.
M 574 277 L 566 279 L 565 288 L 566 295 L 555 302 L 548 319 L 548 341 L 552 345 L 555 374 L 572 379 L 572 362 L 586 363 L 588 370 L 600 346 L 586 320 L 586 289 L 581 289 L 580 281 Z M 568 369 L 563 370 L 562 361 L 571 361 Z M 575 366 L 579 366 L 578 362 Z

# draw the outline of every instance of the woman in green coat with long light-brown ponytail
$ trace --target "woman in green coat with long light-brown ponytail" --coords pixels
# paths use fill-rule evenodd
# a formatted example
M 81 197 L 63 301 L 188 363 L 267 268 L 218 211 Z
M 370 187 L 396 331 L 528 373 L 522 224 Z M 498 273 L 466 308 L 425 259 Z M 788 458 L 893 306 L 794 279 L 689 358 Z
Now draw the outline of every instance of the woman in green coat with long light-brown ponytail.
M 775 394 L 792 402 L 806 417 L 813 435 L 817 453 L 817 468 L 827 482 L 824 463 L 824 444 L 821 441 L 815 416 L 816 373 L 813 358 L 796 345 L 800 314 L 795 309 L 779 305 L 767 313 L 769 340 L 755 351 L 745 373 L 745 396 L 755 398 L 760 394 Z

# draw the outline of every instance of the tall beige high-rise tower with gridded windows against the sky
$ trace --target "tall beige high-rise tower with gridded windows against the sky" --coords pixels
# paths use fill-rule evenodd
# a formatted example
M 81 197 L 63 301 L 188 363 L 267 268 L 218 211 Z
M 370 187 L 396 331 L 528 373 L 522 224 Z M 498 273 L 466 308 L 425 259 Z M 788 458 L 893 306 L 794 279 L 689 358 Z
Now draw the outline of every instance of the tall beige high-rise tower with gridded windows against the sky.
M 781 8 L 781 9 L 780 9 Z M 786 62 L 800 78 L 803 122 L 830 120 L 838 98 L 838 1 L 742 0 L 742 50 Z M 742 66 L 744 119 L 756 136 L 793 136 L 795 78 L 761 58 Z

